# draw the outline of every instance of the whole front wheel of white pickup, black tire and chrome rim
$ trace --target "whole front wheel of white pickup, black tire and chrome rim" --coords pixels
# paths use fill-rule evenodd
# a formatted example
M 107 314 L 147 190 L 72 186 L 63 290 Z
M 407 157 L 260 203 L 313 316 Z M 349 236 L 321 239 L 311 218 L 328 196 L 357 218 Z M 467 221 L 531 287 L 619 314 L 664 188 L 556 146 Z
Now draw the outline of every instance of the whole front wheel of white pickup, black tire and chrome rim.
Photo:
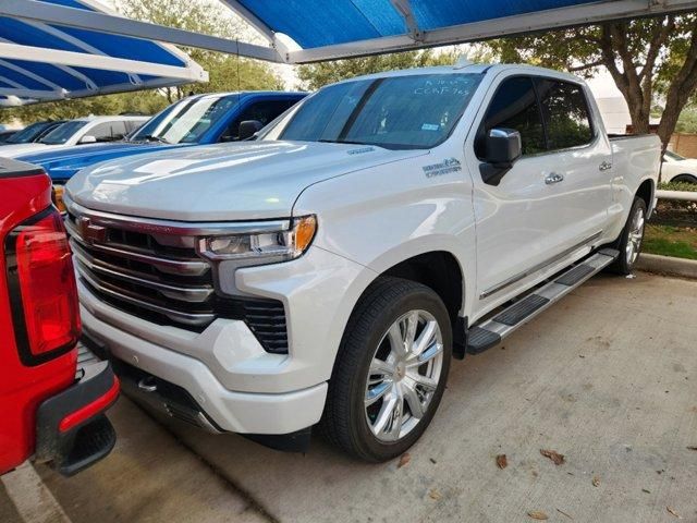
M 409 325 L 416 325 L 415 343 L 400 344 Z M 427 343 L 417 356 L 419 341 Z M 419 358 L 426 363 L 415 365 Z M 438 294 L 409 280 L 378 278 L 357 303 L 339 349 L 320 423 L 326 439 L 365 461 L 401 455 L 430 424 L 451 358 L 450 316 Z

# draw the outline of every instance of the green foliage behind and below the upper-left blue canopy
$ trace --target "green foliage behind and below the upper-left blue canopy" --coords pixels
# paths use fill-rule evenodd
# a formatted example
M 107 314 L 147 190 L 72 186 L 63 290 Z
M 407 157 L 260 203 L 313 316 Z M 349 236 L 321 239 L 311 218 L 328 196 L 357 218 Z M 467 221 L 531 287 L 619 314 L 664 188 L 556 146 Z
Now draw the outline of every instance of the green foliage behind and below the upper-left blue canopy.
M 245 27 L 221 2 L 210 0 L 122 0 L 121 12 L 134 20 L 179 27 L 230 39 L 245 37 Z M 33 122 L 44 119 L 72 119 L 88 114 L 143 112 L 152 114 L 189 93 L 282 89 L 283 82 L 271 68 L 255 60 L 206 51 L 184 49 L 206 71 L 210 81 L 179 87 L 105 95 L 34 106 L 0 109 L 0 121 L 13 119 Z

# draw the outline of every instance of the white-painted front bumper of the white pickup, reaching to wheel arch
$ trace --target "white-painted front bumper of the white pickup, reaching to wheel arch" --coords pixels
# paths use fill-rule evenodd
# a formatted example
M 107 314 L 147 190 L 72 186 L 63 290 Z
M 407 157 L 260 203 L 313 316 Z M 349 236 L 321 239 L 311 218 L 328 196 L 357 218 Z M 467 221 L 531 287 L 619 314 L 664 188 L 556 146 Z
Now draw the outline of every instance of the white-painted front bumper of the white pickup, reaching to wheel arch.
M 84 331 L 117 360 L 183 389 L 216 429 L 288 435 L 320 419 L 337 349 L 369 272 L 311 247 L 294 262 L 237 271 L 243 292 L 283 303 L 289 354 L 266 352 L 241 320 L 218 318 L 191 332 L 138 318 L 77 285 Z

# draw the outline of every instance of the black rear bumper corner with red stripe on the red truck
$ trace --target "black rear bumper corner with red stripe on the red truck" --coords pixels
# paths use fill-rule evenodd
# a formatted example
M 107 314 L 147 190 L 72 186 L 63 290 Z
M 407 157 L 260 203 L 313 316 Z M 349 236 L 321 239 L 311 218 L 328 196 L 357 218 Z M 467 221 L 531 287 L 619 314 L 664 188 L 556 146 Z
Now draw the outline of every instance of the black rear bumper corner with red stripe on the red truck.
M 37 411 L 38 462 L 50 462 L 61 474 L 72 476 L 105 458 L 117 442 L 117 434 L 105 415 L 119 396 L 119 379 L 109 362 L 83 367 L 73 386 L 44 401 Z

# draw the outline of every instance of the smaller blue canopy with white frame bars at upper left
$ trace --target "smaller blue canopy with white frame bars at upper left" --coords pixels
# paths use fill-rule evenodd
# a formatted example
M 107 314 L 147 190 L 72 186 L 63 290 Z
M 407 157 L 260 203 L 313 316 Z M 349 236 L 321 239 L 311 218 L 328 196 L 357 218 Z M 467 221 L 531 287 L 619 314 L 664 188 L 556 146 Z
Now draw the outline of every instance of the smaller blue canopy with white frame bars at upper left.
M 4 0 L 0 1 L 3 4 Z M 23 1 L 105 13 L 94 0 Z M 0 13 L 2 10 L 0 9 Z M 169 44 L 40 20 L 0 16 L 0 105 L 78 98 L 206 81 L 207 73 Z

